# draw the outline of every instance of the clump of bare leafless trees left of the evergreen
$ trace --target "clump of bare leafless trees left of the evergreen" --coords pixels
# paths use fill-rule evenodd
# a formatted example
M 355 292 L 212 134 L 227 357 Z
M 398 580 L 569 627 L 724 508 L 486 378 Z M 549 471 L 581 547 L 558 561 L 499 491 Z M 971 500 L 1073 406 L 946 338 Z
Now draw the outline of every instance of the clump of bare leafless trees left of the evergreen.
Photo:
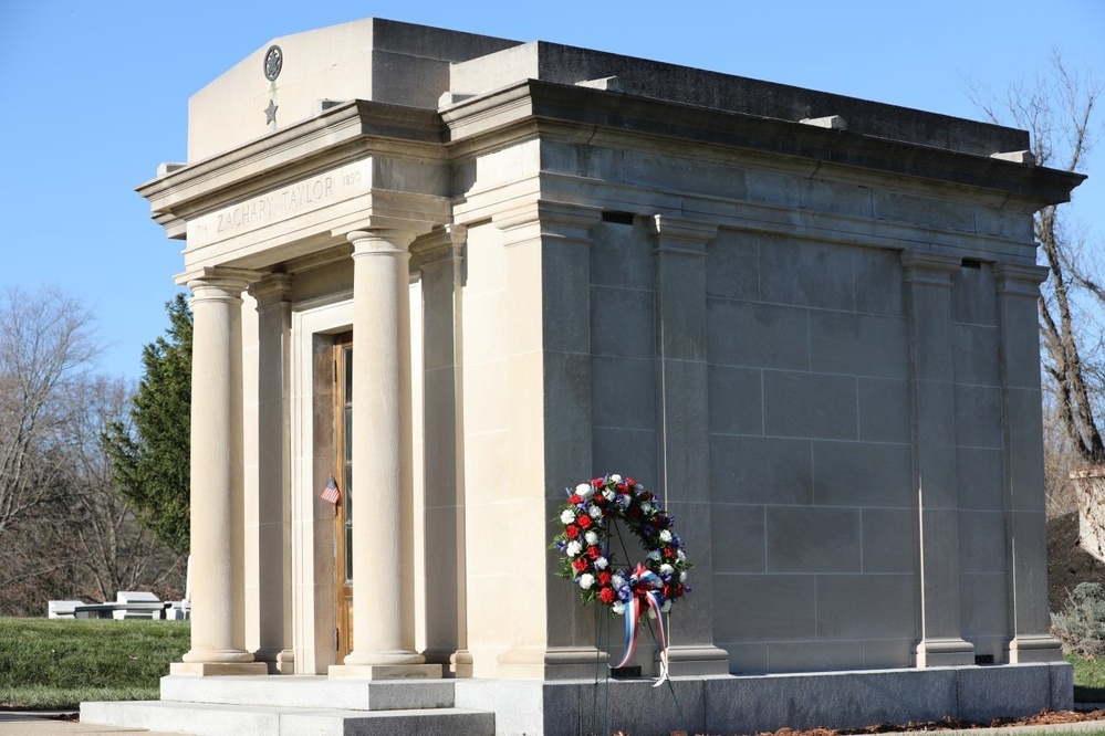
M 179 593 L 184 559 L 137 523 L 101 438 L 132 391 L 94 375 L 91 314 L 45 290 L 0 292 L 0 611 L 118 590 Z

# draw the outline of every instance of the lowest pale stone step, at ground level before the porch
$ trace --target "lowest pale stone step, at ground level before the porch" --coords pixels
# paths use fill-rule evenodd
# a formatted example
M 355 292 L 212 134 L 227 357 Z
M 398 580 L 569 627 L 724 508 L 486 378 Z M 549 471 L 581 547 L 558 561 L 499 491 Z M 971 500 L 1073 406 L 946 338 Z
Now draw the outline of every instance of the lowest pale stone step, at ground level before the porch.
M 82 703 L 81 723 L 192 736 L 493 736 L 494 714 L 461 708 L 351 711 L 173 701 Z

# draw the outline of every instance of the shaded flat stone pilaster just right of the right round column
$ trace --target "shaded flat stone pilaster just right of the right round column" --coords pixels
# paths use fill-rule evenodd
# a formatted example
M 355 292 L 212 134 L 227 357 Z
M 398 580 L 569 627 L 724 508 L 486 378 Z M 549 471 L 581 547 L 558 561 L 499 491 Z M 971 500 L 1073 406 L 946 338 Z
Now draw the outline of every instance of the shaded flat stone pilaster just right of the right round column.
M 460 266 L 467 228 L 419 241 L 423 282 L 423 412 L 426 508 L 426 660 L 470 677 L 465 557 L 462 316 Z

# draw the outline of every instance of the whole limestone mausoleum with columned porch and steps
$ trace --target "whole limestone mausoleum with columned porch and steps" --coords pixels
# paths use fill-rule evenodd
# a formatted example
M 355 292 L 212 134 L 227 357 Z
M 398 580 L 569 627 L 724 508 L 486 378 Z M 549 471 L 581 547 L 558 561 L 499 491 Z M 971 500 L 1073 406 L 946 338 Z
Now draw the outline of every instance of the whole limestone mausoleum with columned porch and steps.
M 256 50 L 138 188 L 192 297 L 191 650 L 83 719 L 588 733 L 605 622 L 550 543 L 604 473 L 694 564 L 611 730 L 1070 707 L 1032 215 L 1081 177 L 1028 149 L 379 19 Z

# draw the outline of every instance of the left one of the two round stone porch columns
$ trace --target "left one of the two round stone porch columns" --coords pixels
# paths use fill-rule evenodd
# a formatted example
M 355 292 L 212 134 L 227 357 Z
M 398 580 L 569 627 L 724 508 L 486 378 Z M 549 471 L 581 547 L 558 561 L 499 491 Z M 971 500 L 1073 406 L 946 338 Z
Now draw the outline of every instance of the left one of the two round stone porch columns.
M 204 269 L 192 292 L 191 650 L 173 674 L 263 674 L 244 649 L 242 291 L 260 274 Z

